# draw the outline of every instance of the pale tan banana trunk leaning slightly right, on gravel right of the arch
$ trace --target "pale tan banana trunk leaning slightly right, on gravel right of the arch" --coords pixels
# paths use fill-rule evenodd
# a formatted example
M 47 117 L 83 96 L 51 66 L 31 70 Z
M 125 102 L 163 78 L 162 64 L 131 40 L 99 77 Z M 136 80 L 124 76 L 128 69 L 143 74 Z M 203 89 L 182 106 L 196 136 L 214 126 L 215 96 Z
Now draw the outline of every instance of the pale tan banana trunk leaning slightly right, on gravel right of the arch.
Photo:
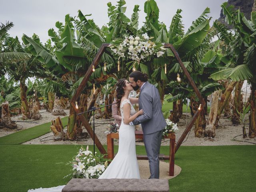
M 204 131 L 204 136 L 215 137 L 215 121 L 217 118 L 218 102 L 219 102 L 220 91 L 215 91 L 212 94 L 212 106 L 210 108 L 210 113 L 208 120 L 206 122 L 206 128 Z

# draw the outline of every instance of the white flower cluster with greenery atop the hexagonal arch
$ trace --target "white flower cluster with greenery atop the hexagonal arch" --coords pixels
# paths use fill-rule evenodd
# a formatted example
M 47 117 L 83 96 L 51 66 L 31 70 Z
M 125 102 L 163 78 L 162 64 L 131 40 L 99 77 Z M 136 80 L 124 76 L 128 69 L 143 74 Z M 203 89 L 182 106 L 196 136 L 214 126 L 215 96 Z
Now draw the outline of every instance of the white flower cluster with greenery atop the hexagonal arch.
M 114 54 L 121 57 L 128 57 L 136 62 L 146 60 L 150 56 L 162 56 L 165 52 L 164 44 L 160 42 L 152 42 L 148 35 L 125 37 L 125 39 L 117 39 L 112 41 L 110 49 Z

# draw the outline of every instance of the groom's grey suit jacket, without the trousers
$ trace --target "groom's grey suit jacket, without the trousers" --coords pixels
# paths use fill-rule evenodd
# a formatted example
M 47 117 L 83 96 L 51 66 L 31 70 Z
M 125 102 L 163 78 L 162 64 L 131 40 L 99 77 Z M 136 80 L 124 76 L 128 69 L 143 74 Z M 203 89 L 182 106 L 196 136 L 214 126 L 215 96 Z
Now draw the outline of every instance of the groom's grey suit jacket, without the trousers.
M 143 110 L 143 115 L 138 116 L 132 123 L 141 123 L 143 134 L 152 134 L 164 129 L 166 122 L 162 114 L 160 95 L 157 88 L 149 82 L 140 90 L 139 107 Z

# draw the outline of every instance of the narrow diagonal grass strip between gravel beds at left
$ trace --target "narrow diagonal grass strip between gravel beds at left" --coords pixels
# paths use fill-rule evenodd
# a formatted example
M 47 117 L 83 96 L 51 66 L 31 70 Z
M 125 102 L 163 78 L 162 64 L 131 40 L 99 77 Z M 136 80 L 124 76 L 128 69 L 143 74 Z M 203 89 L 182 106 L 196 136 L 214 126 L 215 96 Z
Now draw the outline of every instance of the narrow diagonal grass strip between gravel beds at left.
M 61 118 L 63 126 L 68 124 L 68 117 Z M 44 123 L 34 126 L 25 130 L 18 131 L 16 133 L 0 137 L 0 144 L 21 144 L 34 138 L 38 138 L 48 132 L 50 132 L 50 125 L 52 122 Z

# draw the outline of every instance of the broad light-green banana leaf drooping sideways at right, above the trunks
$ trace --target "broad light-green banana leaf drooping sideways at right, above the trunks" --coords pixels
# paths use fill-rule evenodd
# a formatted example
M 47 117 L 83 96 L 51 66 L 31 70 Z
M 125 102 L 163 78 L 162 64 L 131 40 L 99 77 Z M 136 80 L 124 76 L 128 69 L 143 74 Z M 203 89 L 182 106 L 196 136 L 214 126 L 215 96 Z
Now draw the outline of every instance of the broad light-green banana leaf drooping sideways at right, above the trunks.
M 253 77 L 253 74 L 246 64 L 238 65 L 235 68 L 225 68 L 210 75 L 213 80 L 231 79 L 233 81 L 244 81 Z

